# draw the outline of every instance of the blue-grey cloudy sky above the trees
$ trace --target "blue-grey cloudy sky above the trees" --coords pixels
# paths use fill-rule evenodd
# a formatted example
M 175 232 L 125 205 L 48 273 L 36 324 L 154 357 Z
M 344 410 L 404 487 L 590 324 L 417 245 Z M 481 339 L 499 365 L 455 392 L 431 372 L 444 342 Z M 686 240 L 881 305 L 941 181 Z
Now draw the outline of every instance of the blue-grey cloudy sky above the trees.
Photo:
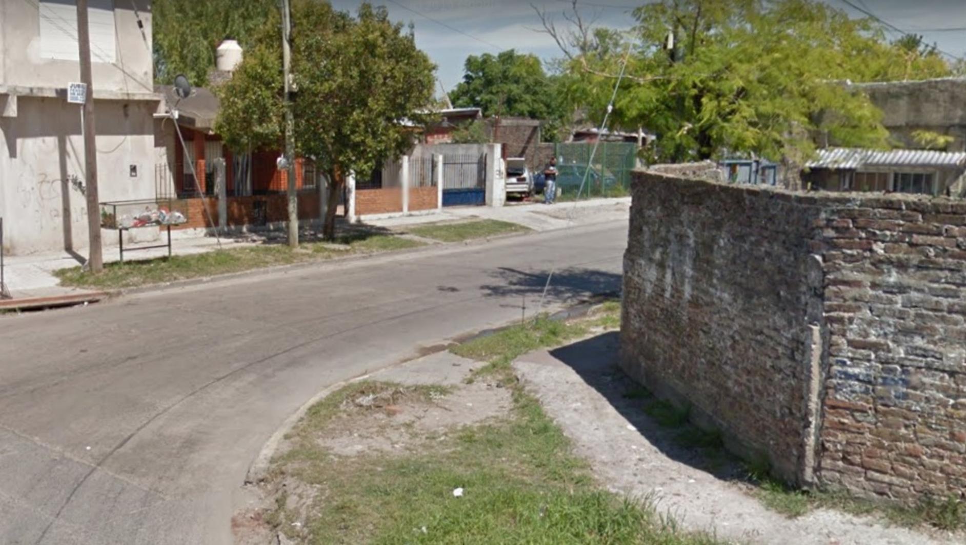
M 560 56 L 553 39 L 538 32 L 540 18 L 532 5 L 546 11 L 560 25 L 570 0 L 370 0 L 384 5 L 398 21 L 414 25 L 416 44 L 438 66 L 437 76 L 447 91 L 463 78 L 469 55 L 514 48 L 550 60 Z M 634 25 L 632 10 L 646 0 L 578 0 L 582 12 L 594 14 L 597 24 L 626 29 Z M 726 1 L 726 0 L 725 0 Z M 848 14 L 863 16 L 858 8 L 895 27 L 922 34 L 927 43 L 958 57 L 966 56 L 966 0 L 822 0 Z M 355 12 L 359 0 L 331 0 L 340 10 Z M 935 30 L 958 29 L 958 30 Z M 891 36 L 898 36 L 891 31 Z M 438 83 L 438 87 L 440 85 Z M 438 89 L 439 93 L 439 89 Z

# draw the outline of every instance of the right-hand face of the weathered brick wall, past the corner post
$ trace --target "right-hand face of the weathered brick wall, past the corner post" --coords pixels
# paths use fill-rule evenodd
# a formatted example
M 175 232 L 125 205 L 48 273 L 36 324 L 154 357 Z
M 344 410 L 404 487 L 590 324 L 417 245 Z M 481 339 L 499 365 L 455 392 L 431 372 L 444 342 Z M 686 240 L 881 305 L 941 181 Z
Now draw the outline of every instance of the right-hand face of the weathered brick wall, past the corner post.
M 820 474 L 897 498 L 966 492 L 966 201 L 826 211 Z

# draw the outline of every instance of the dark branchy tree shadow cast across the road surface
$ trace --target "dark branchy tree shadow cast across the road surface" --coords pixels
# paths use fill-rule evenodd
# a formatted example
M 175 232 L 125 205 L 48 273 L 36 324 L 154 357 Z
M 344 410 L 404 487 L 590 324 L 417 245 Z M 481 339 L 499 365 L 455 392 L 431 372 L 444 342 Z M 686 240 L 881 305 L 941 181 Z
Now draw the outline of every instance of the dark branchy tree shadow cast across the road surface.
M 526 272 L 509 267 L 499 267 L 490 275 L 492 283 L 480 289 L 486 297 L 522 298 L 539 297 L 547 285 L 550 271 Z M 547 302 L 565 302 L 620 293 L 621 274 L 572 267 L 554 271 L 550 287 L 547 289 Z

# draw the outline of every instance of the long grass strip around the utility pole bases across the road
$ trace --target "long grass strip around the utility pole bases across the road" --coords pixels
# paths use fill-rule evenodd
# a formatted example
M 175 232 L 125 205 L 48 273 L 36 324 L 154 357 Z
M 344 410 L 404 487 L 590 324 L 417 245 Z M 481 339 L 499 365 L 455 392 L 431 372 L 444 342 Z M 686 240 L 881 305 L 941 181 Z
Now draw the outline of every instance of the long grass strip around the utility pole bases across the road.
M 310 243 L 301 244 L 298 249 L 293 250 L 285 244 L 260 244 L 192 255 L 176 255 L 170 259 L 164 257 L 127 263 L 109 263 L 99 274 L 91 274 L 81 271 L 80 267 L 72 267 L 55 271 L 54 275 L 60 279 L 62 286 L 112 290 L 318 261 L 351 253 L 378 252 L 423 245 L 410 239 L 369 234 L 346 236 L 338 242 L 347 244 L 349 248 L 337 250 L 327 244 Z

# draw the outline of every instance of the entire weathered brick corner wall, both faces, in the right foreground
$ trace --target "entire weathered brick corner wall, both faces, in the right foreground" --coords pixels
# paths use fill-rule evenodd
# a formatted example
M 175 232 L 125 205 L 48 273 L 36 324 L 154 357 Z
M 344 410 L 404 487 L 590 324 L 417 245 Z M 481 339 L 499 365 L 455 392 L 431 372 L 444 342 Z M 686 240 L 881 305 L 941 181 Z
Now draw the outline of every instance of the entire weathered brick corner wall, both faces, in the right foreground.
M 632 189 L 628 372 L 788 480 L 966 493 L 966 202 Z

